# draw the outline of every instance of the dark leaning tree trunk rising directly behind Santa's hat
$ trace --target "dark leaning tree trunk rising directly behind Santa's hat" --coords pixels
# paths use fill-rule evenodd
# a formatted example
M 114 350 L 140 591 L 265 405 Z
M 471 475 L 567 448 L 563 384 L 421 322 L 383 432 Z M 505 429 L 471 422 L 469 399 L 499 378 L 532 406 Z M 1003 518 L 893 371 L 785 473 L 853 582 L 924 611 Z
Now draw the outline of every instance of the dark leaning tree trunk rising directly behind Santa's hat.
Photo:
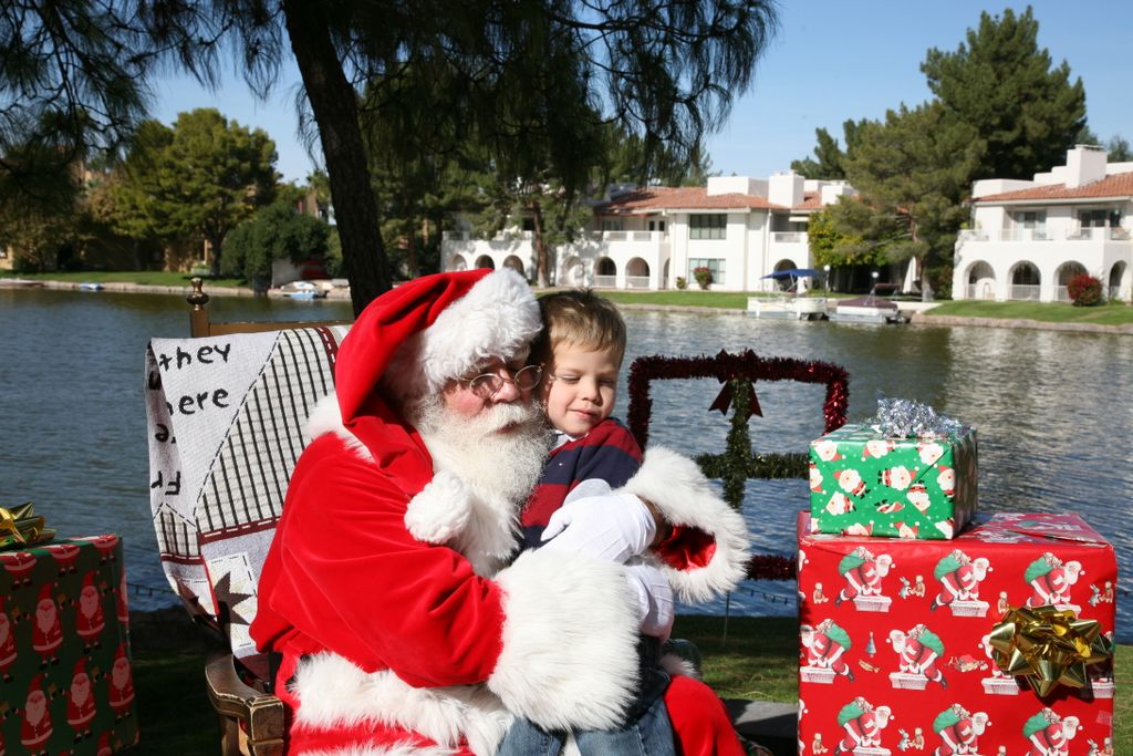
M 342 71 L 321 9 L 317 2 L 283 0 L 291 50 L 318 125 L 342 243 L 342 264 L 357 316 L 374 297 L 387 291 L 392 281 L 366 169 L 357 93 Z

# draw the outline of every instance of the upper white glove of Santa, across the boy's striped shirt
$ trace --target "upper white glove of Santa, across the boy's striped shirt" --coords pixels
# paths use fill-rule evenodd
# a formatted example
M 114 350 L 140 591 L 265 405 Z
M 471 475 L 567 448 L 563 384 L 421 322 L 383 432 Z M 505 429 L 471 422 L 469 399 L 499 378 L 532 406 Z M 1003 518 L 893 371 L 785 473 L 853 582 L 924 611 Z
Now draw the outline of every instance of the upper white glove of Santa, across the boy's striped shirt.
M 645 553 L 657 535 L 653 512 L 630 493 L 587 496 L 564 503 L 543 530 L 546 549 L 624 563 Z

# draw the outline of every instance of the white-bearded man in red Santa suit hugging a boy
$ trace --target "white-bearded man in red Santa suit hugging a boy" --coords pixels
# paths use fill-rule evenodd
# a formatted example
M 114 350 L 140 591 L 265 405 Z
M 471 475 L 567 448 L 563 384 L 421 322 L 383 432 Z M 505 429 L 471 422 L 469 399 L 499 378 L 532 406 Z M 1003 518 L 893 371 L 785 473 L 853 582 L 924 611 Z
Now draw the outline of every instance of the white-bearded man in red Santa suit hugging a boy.
M 414 538 L 407 503 L 443 470 L 477 489 L 501 554 L 513 547 L 547 450 L 529 391 L 512 381 L 539 329 L 521 277 L 477 270 L 398 287 L 343 340 L 252 626 L 281 655 L 288 753 L 487 755 L 510 712 L 552 730 L 608 728 L 632 696 L 638 628 L 664 603 L 650 592 L 665 580 L 642 583 L 596 553 L 651 547 L 690 583 L 742 574 L 743 544 L 689 511 L 707 492 L 659 472 L 629 486 L 649 517 L 615 523 L 608 507 L 583 507 L 559 536 L 576 551 L 526 552 L 494 578 Z M 482 374 L 499 389 L 462 380 Z M 673 526 L 661 543 L 657 515 Z M 743 753 L 702 685 L 676 678 L 665 703 L 687 754 Z

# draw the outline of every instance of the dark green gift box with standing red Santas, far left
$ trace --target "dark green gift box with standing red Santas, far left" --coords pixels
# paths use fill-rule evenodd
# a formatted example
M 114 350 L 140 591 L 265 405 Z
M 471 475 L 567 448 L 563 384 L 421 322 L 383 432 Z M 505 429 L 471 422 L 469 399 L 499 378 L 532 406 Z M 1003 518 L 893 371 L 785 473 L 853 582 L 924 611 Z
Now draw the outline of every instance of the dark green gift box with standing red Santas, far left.
M 102 756 L 135 744 L 122 544 L 0 551 L 0 754 Z

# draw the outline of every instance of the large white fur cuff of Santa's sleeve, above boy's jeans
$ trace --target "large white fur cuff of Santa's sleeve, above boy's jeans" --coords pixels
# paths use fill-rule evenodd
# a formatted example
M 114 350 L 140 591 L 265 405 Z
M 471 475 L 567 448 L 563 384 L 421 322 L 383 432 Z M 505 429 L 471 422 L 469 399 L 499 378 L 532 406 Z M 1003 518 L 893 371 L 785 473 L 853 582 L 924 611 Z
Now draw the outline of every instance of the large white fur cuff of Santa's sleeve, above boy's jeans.
M 547 730 L 615 727 L 638 677 L 636 602 L 622 567 L 540 549 L 497 583 L 506 620 L 488 688 Z

